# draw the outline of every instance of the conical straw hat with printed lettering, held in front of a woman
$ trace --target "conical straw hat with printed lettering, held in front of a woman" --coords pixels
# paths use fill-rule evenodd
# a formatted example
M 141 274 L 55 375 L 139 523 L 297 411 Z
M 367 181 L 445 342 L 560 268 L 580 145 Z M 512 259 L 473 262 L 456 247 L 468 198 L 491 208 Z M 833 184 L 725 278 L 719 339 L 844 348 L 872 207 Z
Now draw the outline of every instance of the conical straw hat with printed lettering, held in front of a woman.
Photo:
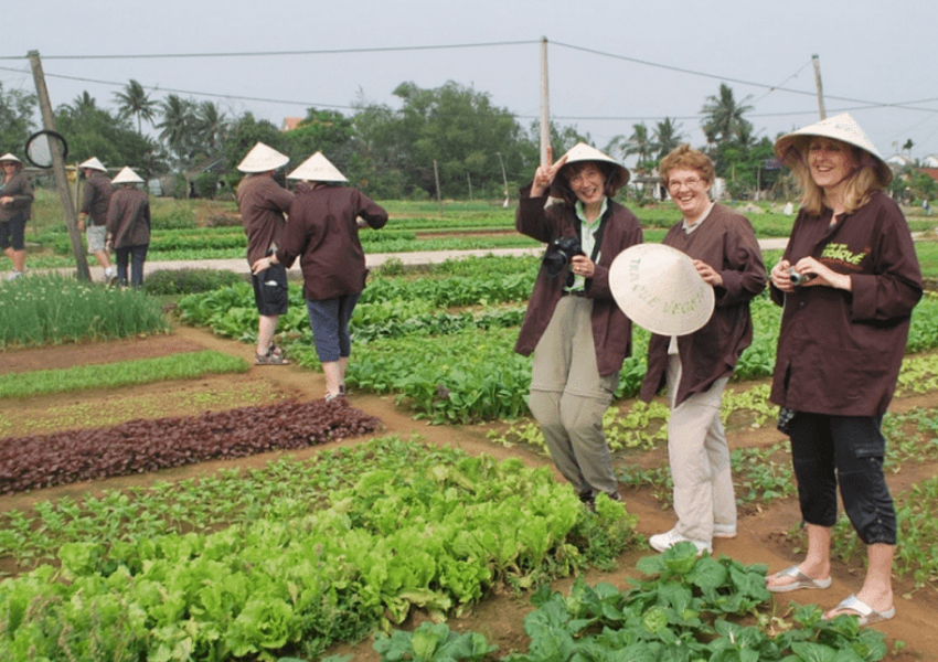
M 616 303 L 636 324 L 661 335 L 686 335 L 713 314 L 713 288 L 691 258 L 664 244 L 638 244 L 609 267 Z

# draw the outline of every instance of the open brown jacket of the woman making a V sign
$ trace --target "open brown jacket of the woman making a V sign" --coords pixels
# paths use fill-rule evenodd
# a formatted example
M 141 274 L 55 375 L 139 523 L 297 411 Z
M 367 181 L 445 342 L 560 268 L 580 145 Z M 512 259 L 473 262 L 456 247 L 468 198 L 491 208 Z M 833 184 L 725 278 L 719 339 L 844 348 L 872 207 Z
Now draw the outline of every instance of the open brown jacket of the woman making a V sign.
M 531 197 L 531 186 L 521 190 L 514 225 L 518 231 L 530 237 L 550 244 L 561 236 L 575 236 L 579 218 L 573 207 L 554 204 L 544 209 L 547 196 Z M 599 259 L 596 273 L 586 281 L 586 296 L 593 299 L 593 340 L 596 345 L 596 364 L 601 376 L 622 370 L 626 356 L 632 350 L 632 323 L 616 306 L 609 289 L 609 267 L 619 253 L 641 244 L 641 225 L 629 210 L 608 201 L 606 209 L 606 229 L 599 246 Z M 527 312 L 521 324 L 521 332 L 514 351 L 530 355 L 537 341 L 547 329 L 547 324 L 563 296 L 563 286 L 568 270 L 556 278 L 547 276 L 543 265 L 534 282 L 534 290 L 527 303 Z

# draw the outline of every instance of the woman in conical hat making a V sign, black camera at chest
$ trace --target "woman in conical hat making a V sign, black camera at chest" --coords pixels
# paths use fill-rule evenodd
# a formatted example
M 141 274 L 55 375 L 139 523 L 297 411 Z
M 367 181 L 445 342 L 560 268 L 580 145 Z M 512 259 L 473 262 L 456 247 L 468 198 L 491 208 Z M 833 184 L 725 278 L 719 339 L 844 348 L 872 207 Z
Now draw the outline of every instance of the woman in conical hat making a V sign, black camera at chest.
M 552 160 L 521 190 L 515 217 L 547 250 L 514 349 L 533 354 L 529 407 L 551 458 L 591 506 L 600 493 L 619 500 L 603 414 L 631 354 L 631 321 L 612 299 L 609 266 L 642 233 L 612 200 L 629 181 L 623 166 L 582 142 Z M 548 203 L 552 192 L 561 200 Z

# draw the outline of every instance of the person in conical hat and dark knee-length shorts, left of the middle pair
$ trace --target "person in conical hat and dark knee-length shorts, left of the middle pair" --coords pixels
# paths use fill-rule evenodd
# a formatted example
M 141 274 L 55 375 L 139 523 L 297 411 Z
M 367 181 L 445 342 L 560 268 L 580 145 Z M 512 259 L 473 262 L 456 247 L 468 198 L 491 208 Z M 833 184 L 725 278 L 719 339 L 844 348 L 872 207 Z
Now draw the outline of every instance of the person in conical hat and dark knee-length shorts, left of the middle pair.
M 246 173 L 237 185 L 237 205 L 244 234 L 247 235 L 247 264 L 252 267 L 254 301 L 260 316 L 257 328 L 257 365 L 287 365 L 280 348 L 274 344 L 277 320 L 287 312 L 289 295 L 287 269 L 274 263 L 257 271 L 254 265 L 276 253 L 290 210 L 294 194 L 274 181 L 274 172 L 287 164 L 290 158 L 276 149 L 258 142 L 238 163 Z

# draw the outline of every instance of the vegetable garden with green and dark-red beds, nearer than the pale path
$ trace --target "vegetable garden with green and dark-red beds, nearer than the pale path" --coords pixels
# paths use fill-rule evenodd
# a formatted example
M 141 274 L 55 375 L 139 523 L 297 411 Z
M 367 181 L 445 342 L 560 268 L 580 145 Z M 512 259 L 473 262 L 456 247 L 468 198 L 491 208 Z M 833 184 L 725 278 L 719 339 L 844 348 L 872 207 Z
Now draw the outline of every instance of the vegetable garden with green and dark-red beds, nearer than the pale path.
M 486 223 L 452 233 L 490 241 Z M 390 245 L 419 241 L 397 228 Z M 170 334 L 162 314 L 149 321 L 167 303 L 153 295 L 54 280 L 61 300 L 43 308 L 30 302 L 43 277 L 0 285 L 0 306 L 33 311 L 29 333 L 7 330 L 0 371 L 0 659 L 936 659 L 938 298 L 916 309 L 884 424 L 899 616 L 859 630 L 820 620 L 839 592 L 789 605 L 764 589 L 767 565 L 804 544 L 767 402 L 776 307 L 756 301 L 756 342 L 724 402 L 740 536 L 713 557 L 657 555 L 644 536 L 670 526 L 667 408 L 635 402 L 647 334 L 606 421 L 625 504 L 589 512 L 551 469 L 526 413 L 530 364 L 512 352 L 536 268 L 374 273 L 352 321 L 349 404 L 329 407 L 297 284 L 278 342 L 298 365 L 249 370 L 246 284 L 173 298 Z M 108 325 L 117 307 L 152 327 Z M 849 592 L 863 549 L 845 522 L 834 537 Z

